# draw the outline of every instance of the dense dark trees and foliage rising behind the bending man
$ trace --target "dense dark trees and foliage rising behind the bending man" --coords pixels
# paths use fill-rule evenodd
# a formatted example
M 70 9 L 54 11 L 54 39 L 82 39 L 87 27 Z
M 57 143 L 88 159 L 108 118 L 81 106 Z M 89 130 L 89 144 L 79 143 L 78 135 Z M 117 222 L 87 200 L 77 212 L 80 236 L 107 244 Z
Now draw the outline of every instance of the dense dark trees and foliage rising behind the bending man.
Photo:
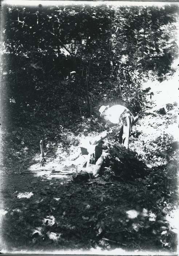
M 139 112 L 142 80 L 161 79 L 177 55 L 174 4 L 3 5 L 1 14 L 2 108 L 15 123 L 64 124 L 102 103 Z

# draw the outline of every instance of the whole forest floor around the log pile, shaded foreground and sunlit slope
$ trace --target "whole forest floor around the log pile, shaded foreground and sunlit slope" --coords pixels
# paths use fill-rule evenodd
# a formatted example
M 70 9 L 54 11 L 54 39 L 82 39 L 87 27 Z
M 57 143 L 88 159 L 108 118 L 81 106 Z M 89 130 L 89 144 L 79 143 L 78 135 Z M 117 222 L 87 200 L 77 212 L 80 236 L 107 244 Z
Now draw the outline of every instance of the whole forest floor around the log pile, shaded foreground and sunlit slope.
M 153 101 L 155 105 L 157 99 Z M 31 127 L 27 133 L 19 128 L 23 138 L 18 135 L 17 149 L 12 147 L 13 133 L 9 134 L 1 174 L 1 252 L 176 252 L 178 144 L 171 143 L 178 140 L 177 118 L 178 107 L 173 106 L 166 114 L 139 119 L 130 149 L 140 155 L 148 173 L 134 180 L 111 177 L 105 182 L 101 175 L 94 183 L 77 183 L 72 175 L 29 172 L 39 168 L 40 147 L 34 145 L 43 131 Z M 57 147 L 49 144 L 46 169 L 71 161 L 77 143 L 70 132 L 68 139 L 73 140 L 68 148 L 62 149 L 60 142 Z

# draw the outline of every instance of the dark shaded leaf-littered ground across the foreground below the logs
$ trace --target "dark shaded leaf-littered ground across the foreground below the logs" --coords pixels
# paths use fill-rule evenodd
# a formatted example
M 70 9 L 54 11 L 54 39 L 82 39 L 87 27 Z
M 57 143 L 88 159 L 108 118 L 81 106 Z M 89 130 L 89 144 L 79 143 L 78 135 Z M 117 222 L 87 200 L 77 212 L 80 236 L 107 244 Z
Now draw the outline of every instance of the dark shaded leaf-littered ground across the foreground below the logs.
M 176 233 L 165 218 L 177 202 L 176 174 L 176 161 L 138 181 L 110 178 L 104 185 L 11 174 L 16 191 L 9 184 L 2 192 L 8 250 L 176 251 Z

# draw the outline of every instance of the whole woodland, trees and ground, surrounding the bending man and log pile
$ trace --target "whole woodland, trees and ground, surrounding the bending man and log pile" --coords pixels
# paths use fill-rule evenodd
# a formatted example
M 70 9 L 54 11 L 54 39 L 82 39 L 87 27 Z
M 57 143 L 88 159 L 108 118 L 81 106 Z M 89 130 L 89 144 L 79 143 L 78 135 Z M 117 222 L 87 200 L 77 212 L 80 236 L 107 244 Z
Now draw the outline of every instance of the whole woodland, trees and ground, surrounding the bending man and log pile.
M 176 251 L 165 218 L 178 207 L 178 148 L 167 131 L 178 107 L 166 93 L 169 112 L 146 116 L 154 102 L 143 89 L 173 92 L 178 13 L 177 3 L 1 5 L 2 250 Z M 47 163 L 59 165 L 107 128 L 100 106 L 118 103 L 140 116 L 130 149 L 151 166 L 146 177 L 90 187 L 24 173 L 39 164 L 41 139 Z

